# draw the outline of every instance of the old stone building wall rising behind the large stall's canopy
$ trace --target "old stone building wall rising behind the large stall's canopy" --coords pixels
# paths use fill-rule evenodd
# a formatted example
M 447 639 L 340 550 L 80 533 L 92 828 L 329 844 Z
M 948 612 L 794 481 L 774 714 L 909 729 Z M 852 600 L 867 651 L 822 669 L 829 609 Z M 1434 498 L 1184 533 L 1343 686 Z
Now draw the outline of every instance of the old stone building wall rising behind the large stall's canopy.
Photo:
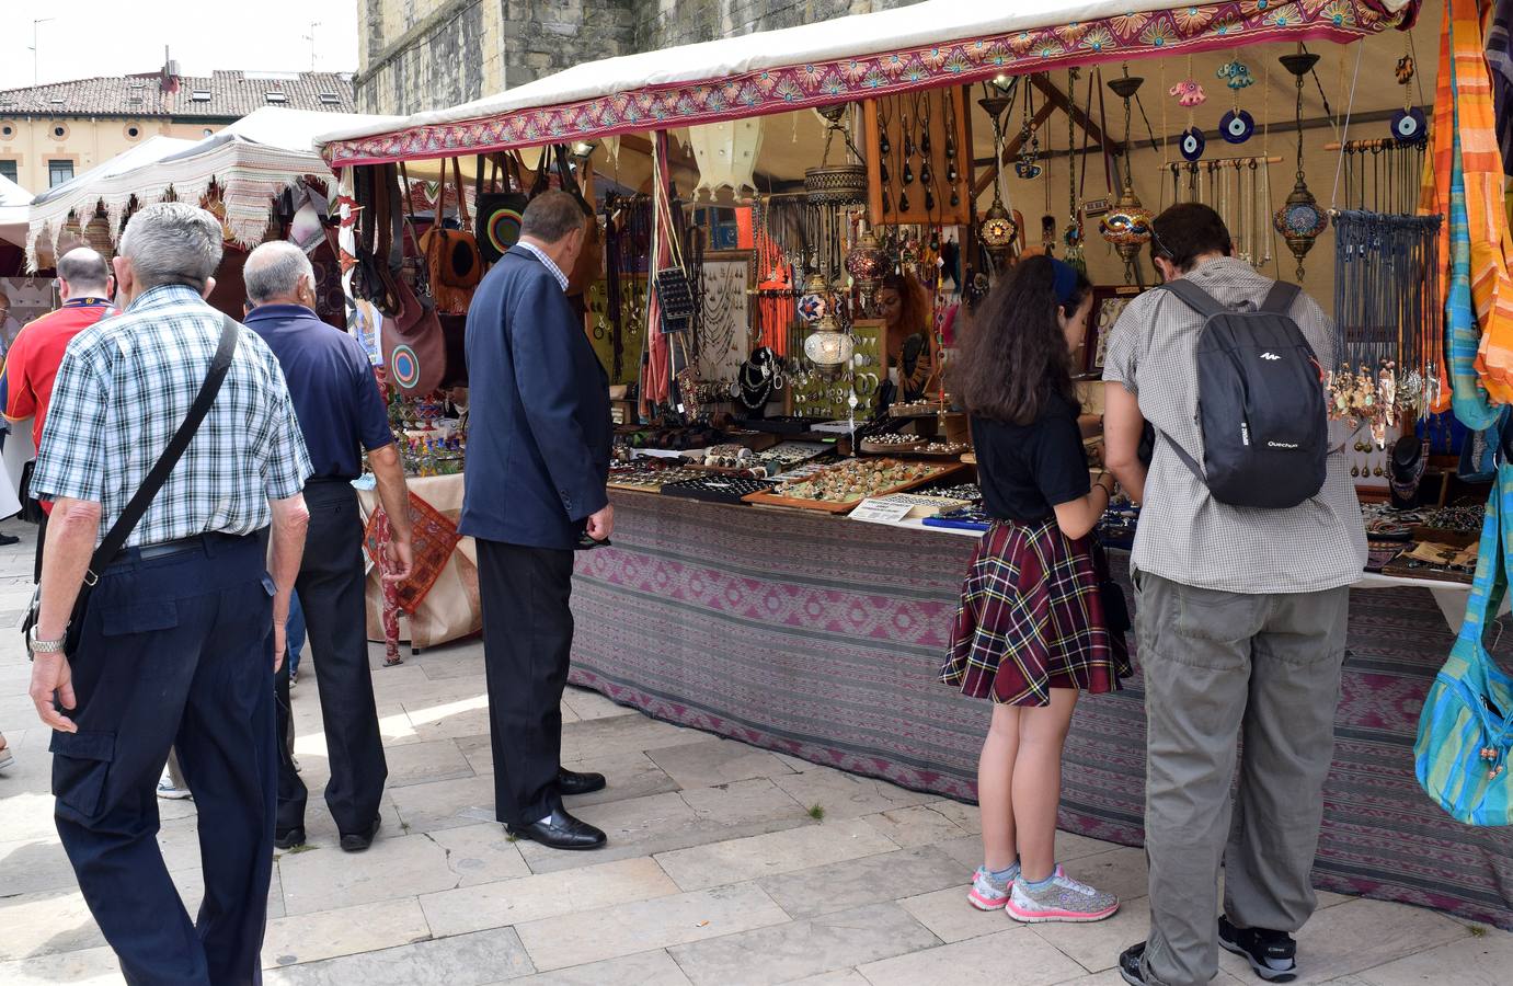
M 353 0 L 357 109 L 416 113 L 579 62 L 870 14 L 914 0 Z

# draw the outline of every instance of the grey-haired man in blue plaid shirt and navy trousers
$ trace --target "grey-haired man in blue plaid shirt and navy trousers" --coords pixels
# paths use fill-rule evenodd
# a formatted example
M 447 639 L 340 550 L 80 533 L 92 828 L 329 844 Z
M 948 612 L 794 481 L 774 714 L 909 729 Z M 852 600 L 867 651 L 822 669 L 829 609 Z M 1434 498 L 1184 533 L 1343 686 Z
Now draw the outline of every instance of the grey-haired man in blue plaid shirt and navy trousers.
M 224 322 L 203 298 L 219 262 L 210 213 L 165 203 L 132 218 L 115 259 L 126 312 L 68 345 L 32 479 L 53 501 L 30 694 L 54 730 L 57 833 L 127 981 L 154 986 L 260 981 L 274 670 L 310 463 L 283 372 L 256 333 L 236 327 L 215 404 L 98 573 L 76 650 L 65 655 L 62 641 L 91 553 L 206 378 Z M 169 746 L 200 812 L 198 926 L 154 838 Z

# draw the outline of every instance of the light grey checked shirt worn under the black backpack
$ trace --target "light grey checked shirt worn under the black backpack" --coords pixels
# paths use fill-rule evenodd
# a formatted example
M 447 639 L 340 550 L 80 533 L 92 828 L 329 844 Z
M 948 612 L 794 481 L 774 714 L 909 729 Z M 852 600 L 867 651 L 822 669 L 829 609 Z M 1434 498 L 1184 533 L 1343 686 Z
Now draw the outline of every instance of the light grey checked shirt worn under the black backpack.
M 1259 305 L 1272 281 L 1244 260 L 1226 257 L 1188 275 L 1226 304 Z M 1292 307 L 1322 366 L 1334 364 L 1334 331 L 1318 304 L 1301 295 Z M 1109 339 L 1103 380 L 1124 384 L 1157 431 L 1203 461 L 1197 423 L 1194 349 L 1201 318 L 1165 290 L 1132 301 Z M 1339 436 L 1336 436 L 1336 443 Z M 1366 529 L 1344 452 L 1328 460 L 1328 478 L 1313 499 L 1291 510 L 1219 504 L 1165 440 L 1145 479 L 1132 564 L 1183 585 L 1229 593 L 1310 593 L 1350 585 L 1366 564 Z

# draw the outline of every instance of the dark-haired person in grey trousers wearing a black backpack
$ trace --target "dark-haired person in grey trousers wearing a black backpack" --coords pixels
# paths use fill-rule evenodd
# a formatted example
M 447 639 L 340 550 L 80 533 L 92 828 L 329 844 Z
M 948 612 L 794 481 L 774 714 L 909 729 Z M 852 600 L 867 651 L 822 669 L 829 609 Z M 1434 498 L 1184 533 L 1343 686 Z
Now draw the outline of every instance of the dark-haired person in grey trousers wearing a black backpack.
M 1207 983 L 1223 945 L 1285 983 L 1316 903 L 1348 587 L 1366 560 L 1344 442 L 1327 439 L 1334 336 L 1312 298 L 1232 256 L 1207 206 L 1157 216 L 1151 256 L 1167 284 L 1124 310 L 1103 372 L 1106 463 L 1142 504 L 1151 930 L 1120 972 Z

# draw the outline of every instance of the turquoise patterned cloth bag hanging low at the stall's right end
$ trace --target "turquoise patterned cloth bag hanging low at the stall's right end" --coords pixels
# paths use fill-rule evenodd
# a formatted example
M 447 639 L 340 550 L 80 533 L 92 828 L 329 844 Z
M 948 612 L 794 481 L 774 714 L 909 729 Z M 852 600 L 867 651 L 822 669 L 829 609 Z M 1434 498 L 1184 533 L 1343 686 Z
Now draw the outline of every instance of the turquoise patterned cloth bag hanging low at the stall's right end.
M 1502 464 L 1481 525 L 1477 581 L 1466 602 L 1466 622 L 1424 700 L 1413 744 L 1424 791 L 1468 826 L 1513 824 L 1513 771 L 1507 770 L 1513 752 L 1513 677 L 1483 646 L 1487 617 L 1501 609 L 1507 594 L 1507 561 L 1513 558 L 1510 535 L 1513 466 Z

